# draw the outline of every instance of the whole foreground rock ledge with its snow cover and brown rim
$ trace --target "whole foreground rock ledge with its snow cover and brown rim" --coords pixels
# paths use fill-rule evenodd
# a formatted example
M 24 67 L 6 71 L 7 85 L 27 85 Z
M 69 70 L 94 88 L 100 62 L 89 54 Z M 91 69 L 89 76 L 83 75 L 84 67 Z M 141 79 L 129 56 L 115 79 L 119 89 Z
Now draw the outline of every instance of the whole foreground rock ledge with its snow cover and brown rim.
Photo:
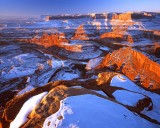
M 68 102 L 68 99 L 71 101 Z M 125 76 L 114 72 L 104 72 L 98 75 L 96 81 L 95 79 L 57 81 L 16 96 L 7 103 L 2 124 L 3 127 L 10 125 L 11 128 L 15 125 L 25 128 L 60 127 L 64 121 L 66 127 L 72 124 L 92 127 L 94 122 L 87 123 L 76 113 L 80 112 L 82 117 L 85 115 L 88 120 L 93 120 L 96 112 L 97 116 L 102 119 L 97 123 L 103 127 L 106 126 L 103 124 L 105 122 L 103 119 L 106 117 L 109 118 L 108 120 L 112 119 L 110 117 L 114 116 L 116 114 L 113 114 L 114 111 L 118 109 L 117 112 L 121 114 L 116 115 L 117 118 L 114 117 L 114 121 L 117 122 L 119 118 L 122 118 L 124 123 L 121 126 L 128 126 L 133 123 L 133 120 L 136 122 L 142 120 L 143 123 L 135 123 L 135 126 L 145 128 L 148 125 L 157 128 L 160 125 L 160 120 L 157 118 L 160 114 L 157 100 L 160 100 L 159 95 L 143 90 Z M 133 112 L 137 115 L 135 116 Z M 126 120 L 128 120 L 127 123 Z M 118 127 L 114 123 L 107 124 L 107 126 Z

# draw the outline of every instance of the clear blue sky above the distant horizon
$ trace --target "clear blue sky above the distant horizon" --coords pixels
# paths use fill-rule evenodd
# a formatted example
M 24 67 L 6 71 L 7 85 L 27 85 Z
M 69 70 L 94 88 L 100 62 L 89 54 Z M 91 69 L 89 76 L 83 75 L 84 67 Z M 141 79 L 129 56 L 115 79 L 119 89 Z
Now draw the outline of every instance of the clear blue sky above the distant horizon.
M 160 12 L 160 0 L 0 0 L 0 15 Z

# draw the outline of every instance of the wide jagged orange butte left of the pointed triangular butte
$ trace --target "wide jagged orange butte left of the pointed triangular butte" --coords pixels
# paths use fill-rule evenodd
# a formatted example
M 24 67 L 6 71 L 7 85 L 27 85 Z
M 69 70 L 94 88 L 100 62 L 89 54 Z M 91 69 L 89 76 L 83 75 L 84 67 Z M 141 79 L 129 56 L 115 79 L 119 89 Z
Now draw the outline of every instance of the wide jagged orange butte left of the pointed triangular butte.
M 68 43 L 64 33 L 56 33 L 48 35 L 44 33 L 40 38 L 34 37 L 29 39 L 28 42 L 43 45 L 44 47 L 51 47 L 53 45 L 59 46 L 62 43 Z

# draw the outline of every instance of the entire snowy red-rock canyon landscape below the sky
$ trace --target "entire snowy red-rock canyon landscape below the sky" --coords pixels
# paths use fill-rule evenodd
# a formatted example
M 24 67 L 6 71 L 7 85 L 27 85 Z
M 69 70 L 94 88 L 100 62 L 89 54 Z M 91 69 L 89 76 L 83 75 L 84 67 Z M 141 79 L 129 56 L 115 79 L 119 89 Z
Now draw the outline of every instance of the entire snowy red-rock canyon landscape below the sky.
M 159 128 L 159 100 L 159 13 L 0 20 L 0 127 Z

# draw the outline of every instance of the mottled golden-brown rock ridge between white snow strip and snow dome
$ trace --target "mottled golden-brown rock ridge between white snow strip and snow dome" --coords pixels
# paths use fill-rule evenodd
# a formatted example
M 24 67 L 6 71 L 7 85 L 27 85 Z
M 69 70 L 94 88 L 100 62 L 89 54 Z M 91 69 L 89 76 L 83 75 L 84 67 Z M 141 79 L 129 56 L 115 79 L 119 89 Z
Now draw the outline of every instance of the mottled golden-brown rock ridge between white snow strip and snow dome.
M 53 88 L 48 95 L 46 95 L 39 105 L 29 114 L 29 121 L 23 126 L 25 128 L 43 126 L 45 119 L 58 111 L 60 107 L 60 101 L 66 97 L 84 95 L 84 94 L 96 94 L 87 89 L 68 88 L 64 85 L 60 85 Z

